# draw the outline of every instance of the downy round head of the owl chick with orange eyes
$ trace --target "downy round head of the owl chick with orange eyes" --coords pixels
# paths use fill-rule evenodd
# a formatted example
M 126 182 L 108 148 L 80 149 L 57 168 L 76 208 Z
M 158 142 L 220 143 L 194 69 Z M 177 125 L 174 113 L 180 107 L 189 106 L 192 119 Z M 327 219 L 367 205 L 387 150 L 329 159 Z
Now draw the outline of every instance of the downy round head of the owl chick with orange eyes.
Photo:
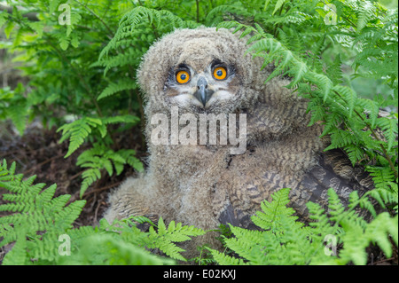
M 250 106 L 266 76 L 247 47 L 245 38 L 223 28 L 177 29 L 163 36 L 137 73 L 151 113 L 178 106 L 194 114 L 227 114 Z

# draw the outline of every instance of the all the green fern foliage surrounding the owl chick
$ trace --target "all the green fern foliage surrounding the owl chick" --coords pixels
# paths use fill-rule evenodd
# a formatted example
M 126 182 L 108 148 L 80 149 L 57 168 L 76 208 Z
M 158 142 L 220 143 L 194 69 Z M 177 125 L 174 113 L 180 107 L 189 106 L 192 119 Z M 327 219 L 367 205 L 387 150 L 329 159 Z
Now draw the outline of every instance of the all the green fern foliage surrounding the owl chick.
M 88 144 L 89 149 L 77 159 L 86 169 L 81 196 L 105 174 L 121 174 L 126 164 L 143 169 L 136 152 L 121 149 L 114 136 L 138 130 L 137 123 L 144 122 L 135 78 L 149 46 L 174 28 L 232 28 L 247 35 L 248 52 L 261 57 L 263 67 L 276 66 L 267 81 L 287 75 L 292 82 L 286 87 L 309 99 L 310 125 L 322 122 L 322 136 L 331 139 L 325 150 L 343 148 L 353 165 L 363 166 L 372 175 L 375 188 L 362 197 L 352 193 L 348 208 L 330 191 L 328 211 L 308 204 L 314 222 L 307 225 L 286 207 L 288 190 L 281 190 L 271 202 L 262 202 L 262 211 L 253 216 L 260 231 L 230 225 L 235 238 L 223 237 L 223 242 L 239 257 L 212 251 L 214 260 L 364 264 L 370 244 L 391 255 L 387 235 L 397 247 L 397 10 L 367 0 L 5 3 L 12 12 L 0 12 L 0 28 L 6 37 L 0 46 L 14 52 L 14 61 L 20 62 L 29 82 L 0 90 L 0 120 L 12 120 L 20 134 L 33 119 L 56 126 L 62 133 L 60 142 L 69 141 L 66 157 Z M 59 23 L 63 12 L 59 4 L 71 8 L 70 25 Z M 25 17 L 28 12 L 35 12 L 37 19 Z M 388 114 L 380 114 L 381 108 Z M 67 196 L 53 198 L 55 185 L 42 192 L 44 185 L 32 185 L 33 178 L 23 181 L 13 175 L 15 167 L 7 171 L 4 164 L 0 185 L 14 190 L 4 200 L 15 202 L 0 207 L 15 212 L 0 222 L 2 245 L 15 242 L 4 263 L 172 263 L 144 248 L 160 249 L 181 260 L 181 248 L 175 242 L 201 234 L 181 224 L 167 227 L 162 220 L 158 227 L 150 224 L 145 233 L 137 228 L 140 219 L 72 229 L 82 209 L 80 200 L 66 206 Z M 372 200 L 390 215 L 377 213 Z M 371 223 L 357 215 L 358 208 L 372 214 Z M 27 222 L 27 215 L 33 220 Z M 59 246 L 57 235 L 65 232 L 73 243 L 70 257 L 59 256 L 51 248 Z M 340 247 L 338 257 L 325 256 L 325 241 L 331 239 Z

